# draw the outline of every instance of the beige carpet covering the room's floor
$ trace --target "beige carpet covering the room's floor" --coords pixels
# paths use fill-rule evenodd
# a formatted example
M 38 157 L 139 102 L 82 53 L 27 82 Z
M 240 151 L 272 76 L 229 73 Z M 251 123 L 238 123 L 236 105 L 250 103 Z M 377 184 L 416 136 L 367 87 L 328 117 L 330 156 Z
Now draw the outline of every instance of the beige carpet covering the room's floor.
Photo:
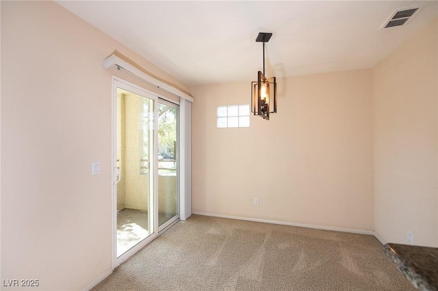
M 360 234 L 192 215 L 93 290 L 415 290 Z

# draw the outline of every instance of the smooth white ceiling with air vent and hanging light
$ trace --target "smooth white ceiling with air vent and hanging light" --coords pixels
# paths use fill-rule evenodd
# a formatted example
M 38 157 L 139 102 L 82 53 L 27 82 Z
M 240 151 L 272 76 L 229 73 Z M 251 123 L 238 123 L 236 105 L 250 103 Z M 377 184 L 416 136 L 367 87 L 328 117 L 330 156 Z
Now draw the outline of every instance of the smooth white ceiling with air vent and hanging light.
M 438 16 L 438 1 L 57 1 L 187 85 L 372 68 Z M 401 27 L 396 8 L 428 3 Z M 109 52 L 110 53 L 110 52 Z

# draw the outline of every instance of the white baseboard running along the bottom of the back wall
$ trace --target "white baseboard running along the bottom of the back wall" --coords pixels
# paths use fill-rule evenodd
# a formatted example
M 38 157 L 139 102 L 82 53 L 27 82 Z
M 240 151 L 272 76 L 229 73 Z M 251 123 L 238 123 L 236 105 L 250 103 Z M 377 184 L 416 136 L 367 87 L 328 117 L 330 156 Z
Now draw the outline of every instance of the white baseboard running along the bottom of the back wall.
M 331 227 L 331 226 L 323 226 L 323 225 L 313 225 L 313 224 L 305 224 L 305 223 L 293 223 L 293 222 L 286 222 L 286 221 L 276 221 L 276 220 L 269 220 L 269 219 L 255 219 L 250 217 L 235 217 L 232 215 L 222 215 L 222 214 L 215 214 L 215 213 L 206 213 L 206 212 L 196 212 L 194 211 L 193 214 L 198 215 L 205 215 L 207 217 L 221 217 L 226 219 L 239 219 L 239 220 L 246 220 L 246 221 L 255 221 L 255 222 L 263 222 L 263 223 L 273 223 L 273 224 L 281 224 L 281 225 L 291 225 L 291 226 L 298 226 L 298 227 L 307 227 L 307 228 L 314 228 L 316 230 L 333 230 L 334 232 L 350 232 L 352 234 L 368 234 L 369 236 L 376 236 L 376 233 L 372 230 L 355 230 L 354 228 L 344 228 L 344 227 Z M 378 240 L 382 240 L 376 236 Z

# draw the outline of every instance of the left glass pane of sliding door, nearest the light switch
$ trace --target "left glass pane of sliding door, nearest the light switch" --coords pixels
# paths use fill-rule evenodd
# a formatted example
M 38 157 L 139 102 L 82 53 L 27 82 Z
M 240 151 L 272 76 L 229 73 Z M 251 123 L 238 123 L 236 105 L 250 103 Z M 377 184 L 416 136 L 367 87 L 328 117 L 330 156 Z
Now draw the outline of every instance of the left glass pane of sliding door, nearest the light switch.
M 117 88 L 117 258 L 153 234 L 154 100 Z

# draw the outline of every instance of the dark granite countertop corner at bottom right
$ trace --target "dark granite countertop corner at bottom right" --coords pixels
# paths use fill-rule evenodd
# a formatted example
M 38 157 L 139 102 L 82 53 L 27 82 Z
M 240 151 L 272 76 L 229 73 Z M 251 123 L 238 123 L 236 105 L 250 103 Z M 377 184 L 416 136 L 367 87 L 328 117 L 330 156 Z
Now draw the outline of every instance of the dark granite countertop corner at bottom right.
M 438 248 L 387 243 L 383 250 L 417 290 L 438 291 Z

